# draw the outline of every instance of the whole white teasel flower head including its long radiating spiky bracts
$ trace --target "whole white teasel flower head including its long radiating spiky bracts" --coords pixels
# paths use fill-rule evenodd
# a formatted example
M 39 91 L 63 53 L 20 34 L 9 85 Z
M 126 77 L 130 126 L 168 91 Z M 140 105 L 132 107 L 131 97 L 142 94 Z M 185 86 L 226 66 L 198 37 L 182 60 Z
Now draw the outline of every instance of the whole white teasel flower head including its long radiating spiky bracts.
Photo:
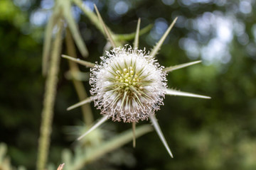
M 107 51 L 107 56 L 100 57 L 102 61 L 100 63 L 96 62 L 96 64 L 63 55 L 63 57 L 69 60 L 85 65 L 85 67 L 91 67 L 90 85 L 92 89 L 90 93 L 92 96 L 70 106 L 68 110 L 94 101 L 95 106 L 104 115 L 87 132 L 78 137 L 78 140 L 98 128 L 108 119 L 112 119 L 114 121 L 132 123 L 133 146 L 135 147 L 136 123 L 139 120 L 148 120 L 149 118 L 167 152 L 173 157 L 154 113 L 160 109 L 161 105 L 164 105 L 163 100 L 166 95 L 210 98 L 176 89 L 167 89 L 166 73 L 198 64 L 201 61 L 164 68 L 155 59 L 171 28 L 174 27 L 177 18 L 174 19 L 159 42 L 156 43 L 149 53 L 145 49 L 138 50 L 140 19 L 137 24 L 134 47 L 132 48 L 127 45 L 117 47 L 118 42 L 113 38 L 109 28 L 105 26 L 96 6 L 95 11 L 113 50 Z

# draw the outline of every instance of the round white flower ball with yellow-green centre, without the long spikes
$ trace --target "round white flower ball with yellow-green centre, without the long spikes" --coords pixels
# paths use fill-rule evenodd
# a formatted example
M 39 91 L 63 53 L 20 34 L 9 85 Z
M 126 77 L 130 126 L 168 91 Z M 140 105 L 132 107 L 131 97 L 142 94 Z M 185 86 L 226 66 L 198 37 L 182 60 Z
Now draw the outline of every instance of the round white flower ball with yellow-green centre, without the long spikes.
M 95 106 L 114 121 L 147 120 L 164 105 L 166 72 L 145 50 L 114 48 L 91 69 Z

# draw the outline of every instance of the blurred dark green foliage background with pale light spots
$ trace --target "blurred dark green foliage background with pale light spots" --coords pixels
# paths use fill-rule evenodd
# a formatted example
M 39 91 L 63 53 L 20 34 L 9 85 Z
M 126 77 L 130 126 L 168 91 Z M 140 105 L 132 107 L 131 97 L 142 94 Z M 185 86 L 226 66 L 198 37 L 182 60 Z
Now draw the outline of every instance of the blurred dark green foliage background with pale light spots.
M 202 64 L 169 73 L 168 84 L 212 97 L 203 100 L 166 96 L 165 106 L 156 117 L 174 159 L 156 132 L 150 132 L 137 139 L 135 149 L 132 142 L 122 147 L 123 157 L 119 159 L 132 157 L 132 162 L 119 163 L 113 158 L 106 169 L 256 169 L 255 0 L 83 2 L 91 9 L 96 4 L 114 33 L 134 32 L 138 18 L 142 18 L 142 28 L 152 23 L 153 28 L 139 41 L 139 47 L 146 50 L 178 16 L 157 59 L 164 66 L 202 60 Z M 0 142 L 8 145 L 13 165 L 28 169 L 34 169 L 36 162 L 45 85 L 41 74 L 43 33 L 53 6 L 53 0 L 0 1 Z M 73 6 L 72 10 L 90 52 L 87 60 L 100 61 L 104 36 L 80 8 Z M 128 43 L 132 45 L 132 41 Z M 65 77 L 67 70 L 67 61 L 61 60 L 48 157 L 55 164 L 62 163 L 61 150 L 73 145 L 65 127 L 82 124 L 80 109 L 66 111 L 78 102 L 72 82 Z M 88 82 L 84 84 L 89 93 Z M 93 113 L 100 118 L 95 108 Z M 131 126 L 111 121 L 108 124 L 117 132 Z

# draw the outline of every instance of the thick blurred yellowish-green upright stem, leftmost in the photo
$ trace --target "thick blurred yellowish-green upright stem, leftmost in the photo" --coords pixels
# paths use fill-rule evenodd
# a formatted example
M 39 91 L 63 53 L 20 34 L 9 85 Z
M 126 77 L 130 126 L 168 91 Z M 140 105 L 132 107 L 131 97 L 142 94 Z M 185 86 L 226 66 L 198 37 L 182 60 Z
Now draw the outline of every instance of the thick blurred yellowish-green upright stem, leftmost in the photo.
M 58 71 L 60 67 L 60 50 L 62 44 L 63 21 L 58 20 L 58 33 L 53 42 L 53 51 L 50 58 L 50 67 L 46 78 L 46 92 L 43 100 L 41 132 L 38 145 L 38 160 L 36 169 L 44 170 L 50 146 L 51 124 L 53 120 L 53 106 L 55 103 Z

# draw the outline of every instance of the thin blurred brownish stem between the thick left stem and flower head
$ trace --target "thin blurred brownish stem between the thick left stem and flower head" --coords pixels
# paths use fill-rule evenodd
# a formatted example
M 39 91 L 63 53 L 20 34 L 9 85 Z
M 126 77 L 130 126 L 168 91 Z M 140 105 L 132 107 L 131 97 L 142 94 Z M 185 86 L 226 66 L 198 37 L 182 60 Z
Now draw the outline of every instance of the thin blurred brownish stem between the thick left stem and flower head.
M 70 34 L 70 30 L 68 28 L 66 30 L 65 42 L 66 42 L 68 55 L 76 57 L 74 41 Z M 68 60 L 68 64 L 70 67 L 71 75 L 80 71 L 78 64 L 76 64 L 75 62 Z M 78 98 L 80 101 L 82 101 L 88 97 L 81 81 L 73 79 L 73 84 L 75 86 L 75 91 L 77 92 Z M 85 125 L 87 125 L 87 126 L 91 125 L 93 123 L 93 116 L 92 116 L 92 110 L 90 108 L 90 103 L 82 105 L 81 109 L 82 109 L 82 115 L 83 115 L 83 118 L 85 121 Z

